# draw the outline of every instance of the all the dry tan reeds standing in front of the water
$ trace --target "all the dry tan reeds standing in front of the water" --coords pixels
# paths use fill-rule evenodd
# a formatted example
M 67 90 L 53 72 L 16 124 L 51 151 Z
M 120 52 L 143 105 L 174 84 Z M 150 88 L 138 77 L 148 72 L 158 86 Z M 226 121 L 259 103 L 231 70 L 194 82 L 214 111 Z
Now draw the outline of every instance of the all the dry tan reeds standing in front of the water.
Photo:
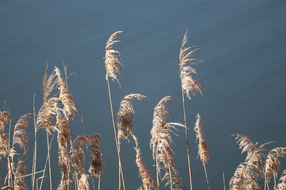
M 128 142 L 130 142 L 131 139 L 135 141 L 135 161 L 138 166 L 139 176 L 142 179 L 142 185 L 138 189 L 159 190 L 162 188 L 161 186 L 163 181 L 165 181 L 165 186 L 169 186 L 172 190 L 187 189 L 182 179 L 179 177 L 179 171 L 176 168 L 174 151 L 172 149 L 174 144 L 172 136 L 176 135 L 178 127 L 183 127 L 186 132 L 186 149 L 188 153 L 190 189 L 192 189 L 193 182 L 184 95 L 186 94 L 188 99 L 191 99 L 190 94 L 195 95 L 195 93 L 199 93 L 202 95 L 201 88 L 203 85 L 200 81 L 195 80 L 193 76 L 198 78 L 201 77 L 197 74 L 196 70 L 191 67 L 193 64 L 202 62 L 201 60 L 192 58 L 193 53 L 197 49 L 192 49 L 195 46 L 185 47 L 187 42 L 186 32 L 179 53 L 179 77 L 181 79 L 182 104 L 184 109 L 185 123 L 181 124 L 179 122 L 169 122 L 171 111 L 168 109 L 167 105 L 172 105 L 171 101 L 178 100 L 176 97 L 163 97 L 154 107 L 153 126 L 150 131 L 150 149 L 152 150 L 152 156 L 156 166 L 156 180 L 154 180 L 152 173 L 147 169 L 142 160 L 142 154 L 138 145 L 138 138 L 133 134 L 135 109 L 132 101 L 134 99 L 145 98 L 146 96 L 141 94 L 126 95 L 120 103 L 120 107 L 118 109 L 117 123 L 114 119 L 109 77 L 111 77 L 113 81 L 116 80 L 121 87 L 118 79 L 118 75 L 120 77 L 123 75 L 123 66 L 120 63 L 120 52 L 114 50 L 112 47 L 116 42 L 120 42 L 114 39 L 121 32 L 122 31 L 115 32 L 110 36 L 106 43 L 106 54 L 104 57 L 106 80 L 108 82 L 110 97 L 111 117 L 113 121 L 115 143 L 119 161 L 119 189 L 122 189 L 121 185 L 123 185 L 124 190 L 126 189 L 126 180 L 124 179 L 120 154 L 121 139 L 126 139 Z M 95 189 L 94 177 L 98 179 L 98 189 L 100 189 L 100 182 L 102 182 L 102 171 L 104 169 L 103 156 L 99 147 L 99 142 L 101 139 L 98 134 L 95 134 L 94 136 L 83 134 L 77 138 L 74 138 L 71 134 L 70 128 L 72 124 L 70 121 L 75 118 L 76 114 L 78 114 L 82 119 L 82 113 L 76 108 L 73 96 L 67 87 L 68 77 L 65 65 L 64 73 L 65 78 L 63 78 L 59 68 L 55 67 L 53 72 L 48 75 L 47 64 L 45 74 L 43 76 L 43 105 L 37 114 L 34 111 L 33 114 L 23 115 L 19 119 L 14 126 L 11 142 L 11 122 L 9 133 L 7 133 L 8 127 L 6 127 L 11 120 L 9 110 L 4 105 L 3 107 L 6 111 L 0 110 L 0 160 L 3 161 L 3 158 L 7 158 L 7 175 L 3 183 L 4 186 L 1 183 L 0 176 L 0 189 L 27 189 L 27 184 L 25 183 L 25 178 L 27 177 L 25 156 L 29 150 L 30 135 L 27 127 L 29 126 L 29 119 L 31 117 L 34 117 L 35 123 L 35 144 L 33 146 L 31 189 L 35 189 L 35 183 L 36 188 L 41 189 L 46 171 L 46 166 L 40 171 L 36 170 L 37 133 L 40 129 L 45 130 L 47 136 L 47 165 L 49 168 L 50 189 L 53 188 L 50 162 L 50 143 L 54 135 L 57 136 L 59 153 L 58 165 L 61 173 L 61 182 L 57 189 L 90 189 L 90 178 L 92 178 L 93 189 Z M 208 175 L 206 172 L 206 164 L 210 160 L 210 154 L 204 140 L 200 115 L 197 114 L 196 117 L 197 120 L 194 124 L 194 131 L 196 132 L 196 141 L 198 141 L 197 158 L 200 157 L 202 165 L 204 166 L 208 189 L 210 189 Z M 277 181 L 278 169 L 280 168 L 279 157 L 285 158 L 286 148 L 278 147 L 269 151 L 265 149 L 265 146 L 272 142 L 258 146 L 257 143 L 254 144 L 247 136 L 241 134 L 235 134 L 233 136 L 236 136 L 236 139 L 238 139 L 238 142 L 240 142 L 239 148 L 243 148 L 242 152 L 247 152 L 247 158 L 245 159 L 245 162 L 237 167 L 229 184 L 230 189 L 270 189 L 269 181 L 272 178 L 274 178 L 275 183 L 274 189 L 286 189 L 286 170 L 282 172 L 281 177 Z M 19 146 L 19 148 L 16 148 L 15 146 Z M 89 175 L 84 171 L 85 151 L 88 150 L 90 152 Z M 22 151 L 22 153 L 20 154 L 19 151 Z M 161 175 L 162 171 L 164 171 L 164 175 Z M 37 178 L 37 182 L 35 182 L 36 173 L 42 173 L 42 177 Z M 40 187 L 38 187 L 38 179 L 41 181 Z M 264 184 L 261 182 L 261 179 L 264 180 Z

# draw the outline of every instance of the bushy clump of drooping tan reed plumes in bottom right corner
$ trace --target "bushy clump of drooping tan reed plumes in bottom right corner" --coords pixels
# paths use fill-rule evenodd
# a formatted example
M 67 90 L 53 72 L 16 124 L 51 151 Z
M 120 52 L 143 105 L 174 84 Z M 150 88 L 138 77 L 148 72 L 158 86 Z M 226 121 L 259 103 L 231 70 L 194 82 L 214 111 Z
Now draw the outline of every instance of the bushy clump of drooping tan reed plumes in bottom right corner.
M 265 149 L 265 146 L 273 142 L 267 142 L 258 146 L 258 143 L 254 144 L 245 135 L 234 134 L 232 136 L 236 136 L 235 139 L 239 139 L 239 148 L 243 149 L 242 153 L 247 152 L 247 157 L 245 162 L 237 167 L 234 176 L 231 178 L 230 188 L 264 189 L 259 181 L 259 179 L 264 179 L 265 189 L 266 186 L 269 189 L 268 182 L 273 175 L 277 177 L 277 172 L 280 167 L 278 156 L 285 158 L 286 148 L 279 147 L 269 151 Z M 269 151 L 269 153 L 266 155 L 265 151 Z

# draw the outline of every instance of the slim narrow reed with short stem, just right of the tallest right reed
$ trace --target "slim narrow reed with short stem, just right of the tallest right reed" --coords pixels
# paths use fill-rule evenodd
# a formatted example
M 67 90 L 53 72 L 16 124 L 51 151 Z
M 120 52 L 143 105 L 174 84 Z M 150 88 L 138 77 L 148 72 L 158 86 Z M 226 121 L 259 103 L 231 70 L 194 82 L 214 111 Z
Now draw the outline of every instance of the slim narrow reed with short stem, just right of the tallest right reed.
M 210 160 L 210 154 L 208 152 L 208 147 L 206 146 L 206 142 L 204 141 L 204 134 L 202 132 L 202 124 L 200 122 L 200 115 L 197 114 L 197 120 L 194 128 L 196 132 L 196 142 L 198 140 L 198 156 L 200 156 L 200 161 L 204 165 L 204 171 L 206 173 L 206 164 Z M 197 156 L 197 158 L 198 158 Z M 206 174 L 206 181 L 208 183 L 208 175 Z M 208 189 L 210 189 L 210 185 L 208 183 Z

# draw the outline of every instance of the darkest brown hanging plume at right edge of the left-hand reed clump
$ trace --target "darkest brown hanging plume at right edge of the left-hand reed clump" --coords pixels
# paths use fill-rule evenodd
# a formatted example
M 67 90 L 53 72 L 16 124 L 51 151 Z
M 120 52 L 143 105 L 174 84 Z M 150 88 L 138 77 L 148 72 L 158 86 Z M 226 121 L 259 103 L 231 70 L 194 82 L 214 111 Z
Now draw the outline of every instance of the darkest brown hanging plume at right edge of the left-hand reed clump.
M 101 180 L 102 169 L 104 169 L 103 157 L 99 148 L 100 136 L 98 134 L 94 135 L 94 140 L 90 145 L 90 169 L 88 170 L 92 176 L 97 177 L 98 180 Z

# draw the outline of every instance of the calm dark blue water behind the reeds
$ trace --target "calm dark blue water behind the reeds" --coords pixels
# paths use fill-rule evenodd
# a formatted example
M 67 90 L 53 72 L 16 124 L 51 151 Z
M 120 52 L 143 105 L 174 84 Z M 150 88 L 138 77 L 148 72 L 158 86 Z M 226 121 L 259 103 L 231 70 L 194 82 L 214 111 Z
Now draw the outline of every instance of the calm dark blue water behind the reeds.
M 154 107 L 165 96 L 174 96 L 170 120 L 184 122 L 178 73 L 179 50 L 188 28 L 187 46 L 200 48 L 194 65 L 205 90 L 186 101 L 187 124 L 194 189 L 207 189 L 204 168 L 197 160 L 193 131 L 200 113 L 205 141 L 210 153 L 206 165 L 211 189 L 223 189 L 237 166 L 244 162 L 232 134 L 244 134 L 253 142 L 285 147 L 286 113 L 286 3 L 285 1 L 0 1 L 0 101 L 9 108 L 11 125 L 42 105 L 42 78 L 46 62 L 68 73 L 68 87 L 84 122 L 72 121 L 74 137 L 99 134 L 105 169 L 100 189 L 118 189 L 118 160 L 105 80 L 105 45 L 111 34 L 123 30 L 114 45 L 120 51 L 122 88 L 111 83 L 115 116 L 124 95 L 141 93 L 148 99 L 134 100 L 134 134 L 142 158 L 156 179 L 150 150 L 150 129 Z M 1 105 L 3 111 L 3 105 Z M 31 139 L 34 138 L 33 120 Z M 9 126 L 9 125 L 8 125 Z M 7 126 L 7 127 L 8 127 Z M 7 128 L 8 130 L 8 128 Z M 178 175 L 190 189 L 184 129 L 174 137 Z M 39 130 L 37 171 L 46 160 L 45 132 Z M 33 140 L 31 140 L 33 144 Z M 31 147 L 32 147 L 31 144 Z M 134 142 L 121 146 L 126 189 L 142 184 L 135 164 Z M 51 145 L 53 188 L 60 183 L 56 136 Z M 32 151 L 27 156 L 31 173 Z M 21 152 L 19 150 L 19 152 Z M 6 159 L 0 163 L 1 183 L 6 175 Z M 86 173 L 89 156 L 86 154 Z M 286 162 L 281 160 L 281 171 Z M 45 173 L 48 175 L 48 173 Z M 41 174 L 37 175 L 40 177 Z M 31 186 L 31 177 L 26 183 Z M 49 188 L 48 177 L 44 188 Z M 92 183 L 90 182 L 92 186 Z M 164 189 L 163 186 L 161 189 Z M 168 189 L 168 187 L 165 187 Z

